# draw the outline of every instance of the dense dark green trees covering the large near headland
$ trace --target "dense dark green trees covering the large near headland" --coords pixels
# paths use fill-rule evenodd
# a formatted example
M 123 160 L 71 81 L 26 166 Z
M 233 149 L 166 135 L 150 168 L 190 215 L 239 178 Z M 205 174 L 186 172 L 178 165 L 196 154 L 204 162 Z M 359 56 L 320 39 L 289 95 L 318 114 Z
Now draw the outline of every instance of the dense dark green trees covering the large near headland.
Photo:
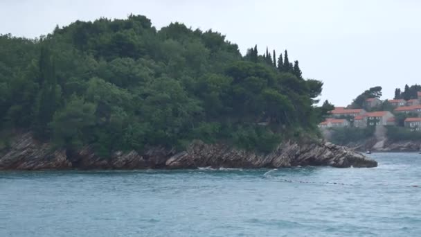
M 0 36 L 0 128 L 106 156 L 192 139 L 270 151 L 314 132 L 322 82 L 287 51 L 242 57 L 224 35 L 149 19 L 76 21 L 39 40 Z M 265 125 L 262 125 L 264 123 Z

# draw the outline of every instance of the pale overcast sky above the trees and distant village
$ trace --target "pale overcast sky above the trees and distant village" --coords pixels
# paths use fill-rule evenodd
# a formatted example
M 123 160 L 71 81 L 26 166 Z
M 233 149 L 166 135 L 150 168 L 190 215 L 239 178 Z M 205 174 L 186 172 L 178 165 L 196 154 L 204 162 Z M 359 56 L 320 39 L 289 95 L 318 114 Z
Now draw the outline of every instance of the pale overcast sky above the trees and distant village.
M 288 49 L 303 76 L 323 80 L 323 100 L 347 105 L 368 87 L 383 98 L 420 84 L 418 0 L 0 0 L 0 33 L 38 37 L 80 19 L 145 15 L 156 28 L 179 21 L 212 28 L 244 54 Z

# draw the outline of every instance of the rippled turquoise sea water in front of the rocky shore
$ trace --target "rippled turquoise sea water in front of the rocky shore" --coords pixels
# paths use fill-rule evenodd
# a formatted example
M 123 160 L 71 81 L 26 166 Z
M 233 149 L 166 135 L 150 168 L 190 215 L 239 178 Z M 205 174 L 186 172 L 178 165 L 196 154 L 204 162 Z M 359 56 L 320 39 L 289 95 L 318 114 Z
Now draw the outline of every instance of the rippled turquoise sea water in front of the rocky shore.
M 421 236 L 421 155 L 370 156 L 377 168 L 0 172 L 0 236 Z

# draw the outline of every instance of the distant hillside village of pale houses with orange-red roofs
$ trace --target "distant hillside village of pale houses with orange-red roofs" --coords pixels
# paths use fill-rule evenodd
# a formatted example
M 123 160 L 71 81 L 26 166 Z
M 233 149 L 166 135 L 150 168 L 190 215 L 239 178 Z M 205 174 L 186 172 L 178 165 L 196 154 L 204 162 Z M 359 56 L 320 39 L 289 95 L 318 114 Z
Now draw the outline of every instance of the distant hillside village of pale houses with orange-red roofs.
M 329 128 L 367 128 L 368 126 L 405 127 L 411 132 L 421 132 L 421 91 L 418 98 L 409 100 L 380 100 L 366 98 L 363 108 L 334 107 L 325 121 L 319 124 L 321 130 Z M 384 104 L 389 106 L 384 109 Z

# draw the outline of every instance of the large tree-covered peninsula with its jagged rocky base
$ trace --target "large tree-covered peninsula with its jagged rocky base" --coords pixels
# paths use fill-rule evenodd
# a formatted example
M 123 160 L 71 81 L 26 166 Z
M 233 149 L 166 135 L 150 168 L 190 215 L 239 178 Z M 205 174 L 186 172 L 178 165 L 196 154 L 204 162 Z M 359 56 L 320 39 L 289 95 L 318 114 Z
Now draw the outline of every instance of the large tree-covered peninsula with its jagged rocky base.
M 323 83 L 287 50 L 150 19 L 0 36 L 0 169 L 373 167 L 321 140 Z

